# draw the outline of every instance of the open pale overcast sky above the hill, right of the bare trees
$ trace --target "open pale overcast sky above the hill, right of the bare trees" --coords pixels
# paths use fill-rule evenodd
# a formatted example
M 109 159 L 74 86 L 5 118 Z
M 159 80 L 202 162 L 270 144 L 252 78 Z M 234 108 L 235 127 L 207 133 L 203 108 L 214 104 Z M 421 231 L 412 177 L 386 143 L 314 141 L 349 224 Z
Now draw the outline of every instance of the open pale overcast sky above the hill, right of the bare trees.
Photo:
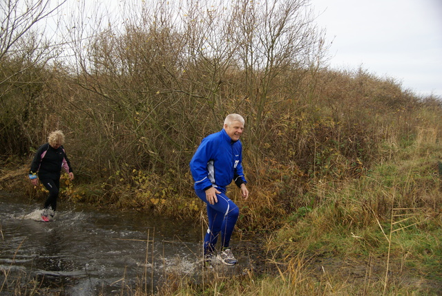
M 442 0 L 311 0 L 330 66 L 393 77 L 442 98 Z

